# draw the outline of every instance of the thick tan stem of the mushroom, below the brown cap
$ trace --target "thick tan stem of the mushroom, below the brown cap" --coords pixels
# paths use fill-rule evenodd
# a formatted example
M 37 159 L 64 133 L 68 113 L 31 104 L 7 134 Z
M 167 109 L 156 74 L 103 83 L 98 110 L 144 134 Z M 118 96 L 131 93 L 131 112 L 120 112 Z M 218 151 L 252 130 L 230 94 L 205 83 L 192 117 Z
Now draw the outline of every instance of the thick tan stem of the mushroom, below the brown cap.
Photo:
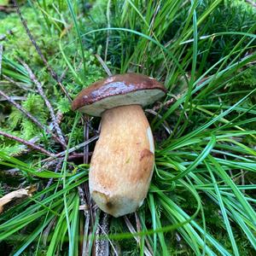
M 90 162 L 90 194 L 114 217 L 135 212 L 148 193 L 154 138 L 140 105 L 102 113 L 102 130 Z

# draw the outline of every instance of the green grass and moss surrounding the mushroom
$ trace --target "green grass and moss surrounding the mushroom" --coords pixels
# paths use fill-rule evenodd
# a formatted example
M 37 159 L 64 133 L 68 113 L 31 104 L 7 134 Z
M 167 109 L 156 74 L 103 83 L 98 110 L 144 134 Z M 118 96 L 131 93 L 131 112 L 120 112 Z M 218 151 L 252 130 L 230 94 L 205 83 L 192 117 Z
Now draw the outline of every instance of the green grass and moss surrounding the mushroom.
M 154 255 L 253 255 L 255 10 L 244 1 L 101 0 L 91 9 L 84 8 L 83 1 L 29 2 L 21 12 L 55 72 L 61 75 L 67 68 L 62 84 L 70 96 L 107 76 L 98 54 L 112 73 L 144 73 L 159 79 L 168 90 L 161 102 L 173 99 L 158 115 L 147 113 L 156 150 L 154 177 L 137 211 L 141 230 L 135 215 L 128 216 L 140 245 L 123 218 L 110 218 L 108 239 L 115 250 L 121 255 L 143 255 L 148 249 Z M 29 90 L 20 90 L 3 76 L 0 89 L 9 96 L 26 96 L 21 105 L 49 123 L 44 102 L 16 59 L 20 56 L 44 84 L 55 111 L 61 111 L 67 147 L 82 143 L 80 116 L 71 111 L 15 14 L 0 20 L 1 33 L 9 22 L 20 28 L 3 41 L 2 74 Z M 18 37 L 24 40 L 18 42 Z M 38 109 L 32 108 L 35 101 Z M 26 140 L 38 136 L 45 149 L 61 152 L 45 131 L 8 102 L 0 102 L 0 116 L 1 130 Z M 98 124 L 98 119 L 91 120 L 92 128 Z M 95 135 L 90 129 L 90 137 Z M 90 151 L 93 148 L 92 143 Z M 55 165 L 44 166 L 46 156 L 34 151 L 19 156 L 22 146 L 4 137 L 0 150 L 0 171 L 17 168 L 20 176 L 15 178 L 22 187 L 38 186 L 32 198 L 0 215 L 0 248 L 14 255 L 78 255 L 84 238 L 92 252 L 102 213 L 90 223 L 87 236 L 78 193 L 79 185 L 88 180 L 89 166 L 68 160 L 65 154 L 55 172 Z M 54 180 L 46 187 L 49 178 Z M 11 186 L 4 179 L 3 183 Z M 4 194 L 4 186 L 0 189 Z M 110 252 L 114 255 L 113 247 Z

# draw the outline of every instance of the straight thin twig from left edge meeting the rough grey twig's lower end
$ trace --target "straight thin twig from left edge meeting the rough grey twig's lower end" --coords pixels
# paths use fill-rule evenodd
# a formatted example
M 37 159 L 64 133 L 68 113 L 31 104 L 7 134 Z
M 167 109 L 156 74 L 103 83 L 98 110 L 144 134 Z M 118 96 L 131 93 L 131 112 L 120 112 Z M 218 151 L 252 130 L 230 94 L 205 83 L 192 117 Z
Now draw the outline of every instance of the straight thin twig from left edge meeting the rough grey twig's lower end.
M 17 102 L 15 102 L 10 96 L 6 95 L 3 90 L 0 90 L 0 95 L 3 96 L 4 98 L 6 98 L 11 104 L 13 104 L 15 106 L 15 108 L 19 109 L 21 113 L 24 113 L 26 115 L 26 117 L 28 119 L 31 119 L 32 122 L 36 125 L 38 125 L 39 128 L 41 128 L 44 131 L 47 131 L 54 139 L 57 143 L 61 143 L 61 145 L 63 147 L 65 147 L 65 145 L 61 142 L 61 139 L 59 137 L 56 137 L 55 134 L 49 130 L 48 127 L 46 127 L 45 125 L 42 125 L 38 119 L 36 119 L 35 117 L 32 116 L 31 113 L 29 113 L 28 111 L 26 111 L 25 108 L 21 107 L 20 104 L 18 104 Z

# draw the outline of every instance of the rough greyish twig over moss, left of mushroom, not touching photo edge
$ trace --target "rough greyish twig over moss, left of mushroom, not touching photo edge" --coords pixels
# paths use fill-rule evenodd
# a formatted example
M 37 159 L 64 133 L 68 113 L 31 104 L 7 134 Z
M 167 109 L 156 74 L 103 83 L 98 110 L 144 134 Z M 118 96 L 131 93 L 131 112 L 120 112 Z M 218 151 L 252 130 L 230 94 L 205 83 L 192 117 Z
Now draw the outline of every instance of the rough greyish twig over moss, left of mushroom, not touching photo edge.
M 36 78 L 35 74 L 32 73 L 31 68 L 28 67 L 28 65 L 27 65 L 24 61 L 21 61 L 20 59 L 19 59 L 19 61 L 20 61 L 20 63 L 23 65 L 23 67 L 26 68 L 26 71 L 27 71 L 27 73 L 29 74 L 30 79 L 32 79 L 32 82 L 33 82 L 34 84 L 36 84 L 36 86 L 37 86 L 37 88 L 38 88 L 38 93 L 40 94 L 40 96 L 42 96 L 42 98 L 44 99 L 45 105 L 46 105 L 47 108 L 49 109 L 49 114 L 50 114 L 50 117 L 51 117 L 51 119 L 52 119 L 53 125 L 54 125 L 54 127 L 55 127 L 55 131 L 57 132 L 58 137 L 60 137 L 61 142 L 62 142 L 64 145 L 66 145 L 65 138 L 64 138 L 64 136 L 63 136 L 63 134 L 62 134 L 62 131 L 61 131 L 61 127 L 60 127 L 60 125 L 58 125 L 57 119 L 56 119 L 56 117 L 55 117 L 55 112 L 54 112 L 54 110 L 53 110 L 53 108 L 52 108 L 52 106 L 51 106 L 51 104 L 50 104 L 48 98 L 47 98 L 47 97 L 45 96 L 45 94 L 44 94 L 44 90 L 43 90 L 42 84 L 38 81 L 38 79 Z M 65 148 L 67 148 L 67 146 L 66 146 Z

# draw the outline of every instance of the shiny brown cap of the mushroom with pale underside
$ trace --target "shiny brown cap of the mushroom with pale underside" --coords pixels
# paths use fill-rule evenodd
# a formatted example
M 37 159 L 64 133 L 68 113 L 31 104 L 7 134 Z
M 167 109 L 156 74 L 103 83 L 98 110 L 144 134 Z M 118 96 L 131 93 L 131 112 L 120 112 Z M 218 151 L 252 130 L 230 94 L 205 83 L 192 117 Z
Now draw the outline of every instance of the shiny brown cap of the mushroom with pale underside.
M 142 74 L 125 73 L 102 79 L 84 88 L 73 100 L 72 109 L 101 116 L 110 108 L 125 105 L 146 106 L 166 94 L 166 88 Z

